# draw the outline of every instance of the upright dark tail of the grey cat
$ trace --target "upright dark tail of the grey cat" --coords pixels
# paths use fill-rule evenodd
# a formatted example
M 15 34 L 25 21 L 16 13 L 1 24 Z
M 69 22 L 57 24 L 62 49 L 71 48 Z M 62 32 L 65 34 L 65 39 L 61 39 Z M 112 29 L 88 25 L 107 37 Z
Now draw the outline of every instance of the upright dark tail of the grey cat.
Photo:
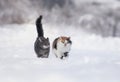
M 36 28 L 37 28 L 38 37 L 44 37 L 44 32 L 43 32 L 41 21 L 42 21 L 42 15 L 40 15 L 39 18 L 37 18 L 36 20 Z

